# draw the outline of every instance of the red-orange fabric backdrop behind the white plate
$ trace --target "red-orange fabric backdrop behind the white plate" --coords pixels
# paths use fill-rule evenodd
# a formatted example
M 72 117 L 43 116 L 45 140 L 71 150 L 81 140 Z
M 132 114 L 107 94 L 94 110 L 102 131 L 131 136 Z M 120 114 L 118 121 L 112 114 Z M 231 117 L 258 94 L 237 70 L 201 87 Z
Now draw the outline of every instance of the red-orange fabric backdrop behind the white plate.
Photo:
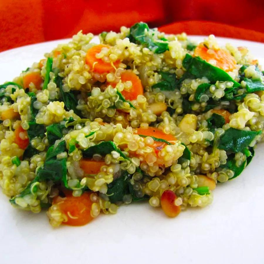
M 94 34 L 118 31 L 138 21 L 166 33 L 213 33 L 264 42 L 263 12 L 263 0 L 1 0 L 0 51 L 67 38 L 81 29 Z

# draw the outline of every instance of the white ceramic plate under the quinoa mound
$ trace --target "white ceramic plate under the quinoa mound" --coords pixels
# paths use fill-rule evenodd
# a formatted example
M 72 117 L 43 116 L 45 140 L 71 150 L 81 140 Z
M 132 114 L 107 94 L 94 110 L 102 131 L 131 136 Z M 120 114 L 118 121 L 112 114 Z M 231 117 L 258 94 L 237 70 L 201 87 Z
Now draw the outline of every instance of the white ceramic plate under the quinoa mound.
M 247 46 L 264 66 L 264 44 L 218 40 L 221 45 Z M 67 41 L 0 53 L 0 83 Z M 0 193 L 0 263 L 263 263 L 262 147 L 239 177 L 217 185 L 213 204 L 188 208 L 174 219 L 148 203 L 130 204 L 86 226 L 53 229 L 45 212 L 14 209 Z

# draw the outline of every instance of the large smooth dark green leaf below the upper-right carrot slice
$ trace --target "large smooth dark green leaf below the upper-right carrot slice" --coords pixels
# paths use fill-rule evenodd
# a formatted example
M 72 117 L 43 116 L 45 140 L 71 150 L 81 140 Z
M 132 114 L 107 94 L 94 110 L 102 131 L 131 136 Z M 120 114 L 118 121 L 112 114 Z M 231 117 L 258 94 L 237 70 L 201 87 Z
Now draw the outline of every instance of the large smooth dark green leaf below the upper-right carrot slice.
M 217 81 L 231 81 L 233 82 L 234 88 L 240 86 L 240 84 L 233 80 L 224 70 L 214 67 L 200 57 L 192 57 L 186 54 L 182 61 L 182 65 L 185 67 L 186 71 L 195 78 L 206 77 L 211 83 L 216 83 Z

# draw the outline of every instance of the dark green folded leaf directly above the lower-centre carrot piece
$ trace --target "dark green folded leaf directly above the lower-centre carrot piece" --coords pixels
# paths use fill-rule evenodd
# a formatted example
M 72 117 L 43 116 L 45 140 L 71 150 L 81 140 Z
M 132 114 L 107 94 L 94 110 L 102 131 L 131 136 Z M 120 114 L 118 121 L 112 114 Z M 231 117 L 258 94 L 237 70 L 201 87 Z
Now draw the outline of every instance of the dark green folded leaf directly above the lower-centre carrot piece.
M 82 154 L 84 158 L 92 158 L 94 154 L 105 156 L 106 154 L 110 154 L 112 151 L 118 152 L 121 157 L 127 159 L 127 157 L 121 152 L 119 148 L 117 148 L 116 144 L 113 141 L 103 141 L 97 145 L 83 150 Z

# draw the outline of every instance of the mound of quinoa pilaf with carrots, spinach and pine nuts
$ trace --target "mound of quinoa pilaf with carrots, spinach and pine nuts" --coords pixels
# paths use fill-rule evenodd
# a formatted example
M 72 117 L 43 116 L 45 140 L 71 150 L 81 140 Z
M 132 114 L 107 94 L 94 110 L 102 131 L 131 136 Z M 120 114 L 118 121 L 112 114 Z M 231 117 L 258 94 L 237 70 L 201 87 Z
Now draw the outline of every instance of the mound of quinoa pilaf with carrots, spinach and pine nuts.
M 0 185 L 52 226 L 147 200 L 175 217 L 211 204 L 262 141 L 264 76 L 246 47 L 145 23 L 79 32 L 0 85 Z

